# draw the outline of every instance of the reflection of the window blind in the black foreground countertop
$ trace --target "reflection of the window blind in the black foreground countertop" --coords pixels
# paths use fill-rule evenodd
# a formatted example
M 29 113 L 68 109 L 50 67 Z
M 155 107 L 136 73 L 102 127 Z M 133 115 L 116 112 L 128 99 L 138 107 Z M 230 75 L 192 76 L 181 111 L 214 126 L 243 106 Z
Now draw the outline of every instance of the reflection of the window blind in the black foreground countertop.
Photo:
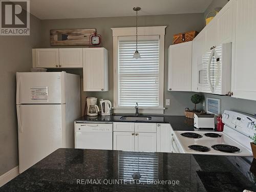
M 158 179 L 158 156 L 156 153 L 119 152 L 119 179 L 133 180 L 139 173 L 141 183 Z

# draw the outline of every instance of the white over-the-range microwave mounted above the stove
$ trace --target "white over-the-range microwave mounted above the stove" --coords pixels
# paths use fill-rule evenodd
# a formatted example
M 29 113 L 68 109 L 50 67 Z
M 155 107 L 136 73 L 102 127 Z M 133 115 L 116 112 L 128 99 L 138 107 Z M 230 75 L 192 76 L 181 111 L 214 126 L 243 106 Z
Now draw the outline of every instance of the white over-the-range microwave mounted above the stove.
M 198 65 L 198 91 L 218 95 L 231 93 L 232 45 L 212 47 Z

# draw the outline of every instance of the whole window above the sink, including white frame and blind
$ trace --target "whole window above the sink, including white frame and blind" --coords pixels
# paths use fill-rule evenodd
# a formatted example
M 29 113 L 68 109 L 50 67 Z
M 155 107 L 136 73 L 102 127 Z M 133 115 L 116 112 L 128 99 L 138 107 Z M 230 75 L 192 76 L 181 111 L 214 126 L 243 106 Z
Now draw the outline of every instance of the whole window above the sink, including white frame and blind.
M 114 55 L 114 113 L 163 113 L 165 26 L 139 27 L 138 51 L 135 28 L 112 28 Z

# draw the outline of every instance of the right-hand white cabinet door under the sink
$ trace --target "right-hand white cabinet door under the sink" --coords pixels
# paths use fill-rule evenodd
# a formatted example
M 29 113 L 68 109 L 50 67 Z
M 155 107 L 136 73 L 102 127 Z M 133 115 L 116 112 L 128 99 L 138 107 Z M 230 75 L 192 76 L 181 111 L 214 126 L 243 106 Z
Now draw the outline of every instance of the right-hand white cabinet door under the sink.
M 135 151 L 156 152 L 157 151 L 156 133 L 135 133 Z

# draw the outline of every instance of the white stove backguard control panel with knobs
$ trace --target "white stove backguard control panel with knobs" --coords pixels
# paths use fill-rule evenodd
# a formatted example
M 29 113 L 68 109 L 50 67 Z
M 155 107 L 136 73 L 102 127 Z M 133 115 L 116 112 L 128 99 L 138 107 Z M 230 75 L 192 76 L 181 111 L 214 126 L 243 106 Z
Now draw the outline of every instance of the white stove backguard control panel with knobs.
M 226 126 L 246 136 L 253 136 L 256 133 L 253 125 L 253 122 L 256 124 L 256 116 L 225 110 L 222 115 L 222 121 Z

